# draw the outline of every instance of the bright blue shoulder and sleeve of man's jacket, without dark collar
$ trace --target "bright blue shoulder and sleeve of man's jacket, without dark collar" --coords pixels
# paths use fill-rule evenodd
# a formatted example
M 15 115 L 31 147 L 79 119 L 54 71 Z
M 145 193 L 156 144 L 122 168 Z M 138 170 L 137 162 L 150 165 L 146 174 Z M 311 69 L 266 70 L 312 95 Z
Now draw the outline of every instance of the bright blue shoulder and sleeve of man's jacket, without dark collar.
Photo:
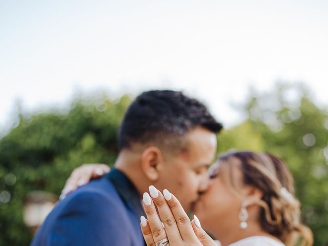
M 133 236 L 126 237 L 126 234 L 135 229 L 115 187 L 106 178 L 101 178 L 59 201 L 32 245 L 68 245 L 66 242 L 87 245 L 92 241 L 98 245 L 115 241 L 113 245 L 120 245 L 121 242 L 133 241 Z

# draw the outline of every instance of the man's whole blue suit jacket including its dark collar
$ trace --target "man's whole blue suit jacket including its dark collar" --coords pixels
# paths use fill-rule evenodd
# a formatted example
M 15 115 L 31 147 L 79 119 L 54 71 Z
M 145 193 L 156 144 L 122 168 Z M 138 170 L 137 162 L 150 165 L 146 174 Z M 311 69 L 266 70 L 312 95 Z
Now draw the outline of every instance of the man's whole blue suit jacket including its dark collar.
M 144 246 L 140 197 L 117 169 L 59 201 L 31 246 Z

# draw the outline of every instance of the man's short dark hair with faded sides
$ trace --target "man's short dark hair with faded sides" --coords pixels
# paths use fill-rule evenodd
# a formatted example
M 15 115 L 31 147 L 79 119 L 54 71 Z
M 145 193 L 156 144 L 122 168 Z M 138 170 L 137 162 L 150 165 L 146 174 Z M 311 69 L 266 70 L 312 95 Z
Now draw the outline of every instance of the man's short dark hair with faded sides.
M 213 133 L 222 129 L 203 104 L 182 92 L 143 92 L 131 103 L 121 122 L 118 148 L 121 151 L 132 143 L 148 142 L 176 148 L 181 145 L 181 137 L 197 126 Z

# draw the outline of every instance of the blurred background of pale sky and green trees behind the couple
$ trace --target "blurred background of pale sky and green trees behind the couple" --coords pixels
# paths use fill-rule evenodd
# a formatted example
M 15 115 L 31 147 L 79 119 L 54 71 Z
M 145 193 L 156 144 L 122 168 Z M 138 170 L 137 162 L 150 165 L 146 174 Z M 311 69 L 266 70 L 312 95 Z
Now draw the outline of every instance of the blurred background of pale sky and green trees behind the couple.
M 82 163 L 112 165 L 138 93 L 182 90 L 269 151 L 328 243 L 327 1 L 0 1 L 0 245 L 29 245 Z

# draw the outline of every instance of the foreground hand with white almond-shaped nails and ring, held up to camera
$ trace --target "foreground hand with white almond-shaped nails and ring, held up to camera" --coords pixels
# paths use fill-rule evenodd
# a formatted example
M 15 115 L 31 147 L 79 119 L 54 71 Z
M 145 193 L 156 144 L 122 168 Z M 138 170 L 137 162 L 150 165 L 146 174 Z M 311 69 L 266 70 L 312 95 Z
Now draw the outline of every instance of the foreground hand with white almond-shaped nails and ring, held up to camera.
M 149 187 L 149 192 L 151 196 L 144 193 L 142 202 L 147 219 L 144 216 L 140 218 L 141 231 L 148 246 L 154 246 L 156 242 L 165 238 L 169 239 L 166 246 L 216 246 L 213 239 L 201 228 L 196 215 L 190 221 L 173 194 L 168 190 L 164 190 L 162 194 L 154 186 Z

